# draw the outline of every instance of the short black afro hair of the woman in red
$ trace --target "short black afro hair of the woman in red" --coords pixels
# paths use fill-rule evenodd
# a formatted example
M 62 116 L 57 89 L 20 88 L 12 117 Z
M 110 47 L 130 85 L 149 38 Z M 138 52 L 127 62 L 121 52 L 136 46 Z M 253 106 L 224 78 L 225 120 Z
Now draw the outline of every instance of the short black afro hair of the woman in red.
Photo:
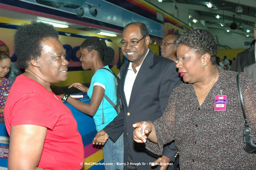
M 19 66 L 27 68 L 32 58 L 40 57 L 45 38 L 59 38 L 58 31 L 51 24 L 32 21 L 18 27 L 14 35 L 14 52 Z

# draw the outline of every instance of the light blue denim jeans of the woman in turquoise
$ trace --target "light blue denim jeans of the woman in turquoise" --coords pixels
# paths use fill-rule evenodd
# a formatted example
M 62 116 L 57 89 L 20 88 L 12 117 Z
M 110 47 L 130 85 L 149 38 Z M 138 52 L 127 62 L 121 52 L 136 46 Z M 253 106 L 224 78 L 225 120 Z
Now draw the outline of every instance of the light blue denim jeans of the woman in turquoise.
M 103 158 L 104 163 L 109 163 L 110 165 L 105 165 L 105 170 L 124 170 L 124 134 L 114 143 L 110 139 L 107 140 L 105 146 L 103 147 Z M 111 165 L 113 164 L 113 165 Z

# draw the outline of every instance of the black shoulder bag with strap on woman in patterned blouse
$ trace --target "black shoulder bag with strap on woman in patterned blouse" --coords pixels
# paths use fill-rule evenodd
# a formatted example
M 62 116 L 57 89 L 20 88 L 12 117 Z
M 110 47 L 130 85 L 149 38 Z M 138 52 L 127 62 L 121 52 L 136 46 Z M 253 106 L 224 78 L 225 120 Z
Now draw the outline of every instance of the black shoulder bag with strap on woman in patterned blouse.
M 240 104 L 241 104 L 241 108 L 243 110 L 243 116 L 244 116 L 244 120 L 245 120 L 243 148 L 244 148 L 245 152 L 256 153 L 256 144 L 255 144 L 254 141 L 252 141 L 251 128 L 250 128 L 250 126 L 247 122 L 245 106 L 244 106 L 244 103 L 243 103 L 243 95 L 242 95 L 241 87 L 240 87 L 239 75 L 240 75 L 240 73 L 238 73 L 237 76 L 236 76 L 236 86 L 237 86 L 238 97 L 239 97 L 239 100 L 240 100 Z

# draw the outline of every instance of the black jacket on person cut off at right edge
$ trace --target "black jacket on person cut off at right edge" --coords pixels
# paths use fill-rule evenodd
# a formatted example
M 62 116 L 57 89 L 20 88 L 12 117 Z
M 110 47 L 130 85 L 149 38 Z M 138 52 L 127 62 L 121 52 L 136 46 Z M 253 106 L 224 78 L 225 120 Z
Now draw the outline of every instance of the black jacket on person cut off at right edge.
M 238 53 L 236 59 L 236 72 L 243 72 L 246 66 L 254 64 L 255 62 L 254 46 L 252 46 L 251 48 Z

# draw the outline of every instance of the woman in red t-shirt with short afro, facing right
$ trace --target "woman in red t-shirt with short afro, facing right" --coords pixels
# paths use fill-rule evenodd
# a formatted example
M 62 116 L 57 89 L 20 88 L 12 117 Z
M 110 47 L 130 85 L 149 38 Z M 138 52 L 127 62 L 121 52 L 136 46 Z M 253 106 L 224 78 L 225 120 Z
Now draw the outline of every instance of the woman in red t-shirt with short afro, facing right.
M 25 72 L 13 83 L 4 108 L 8 170 L 81 170 L 85 157 L 76 119 L 50 88 L 67 80 L 69 62 L 58 31 L 43 22 L 24 24 L 14 46 Z

